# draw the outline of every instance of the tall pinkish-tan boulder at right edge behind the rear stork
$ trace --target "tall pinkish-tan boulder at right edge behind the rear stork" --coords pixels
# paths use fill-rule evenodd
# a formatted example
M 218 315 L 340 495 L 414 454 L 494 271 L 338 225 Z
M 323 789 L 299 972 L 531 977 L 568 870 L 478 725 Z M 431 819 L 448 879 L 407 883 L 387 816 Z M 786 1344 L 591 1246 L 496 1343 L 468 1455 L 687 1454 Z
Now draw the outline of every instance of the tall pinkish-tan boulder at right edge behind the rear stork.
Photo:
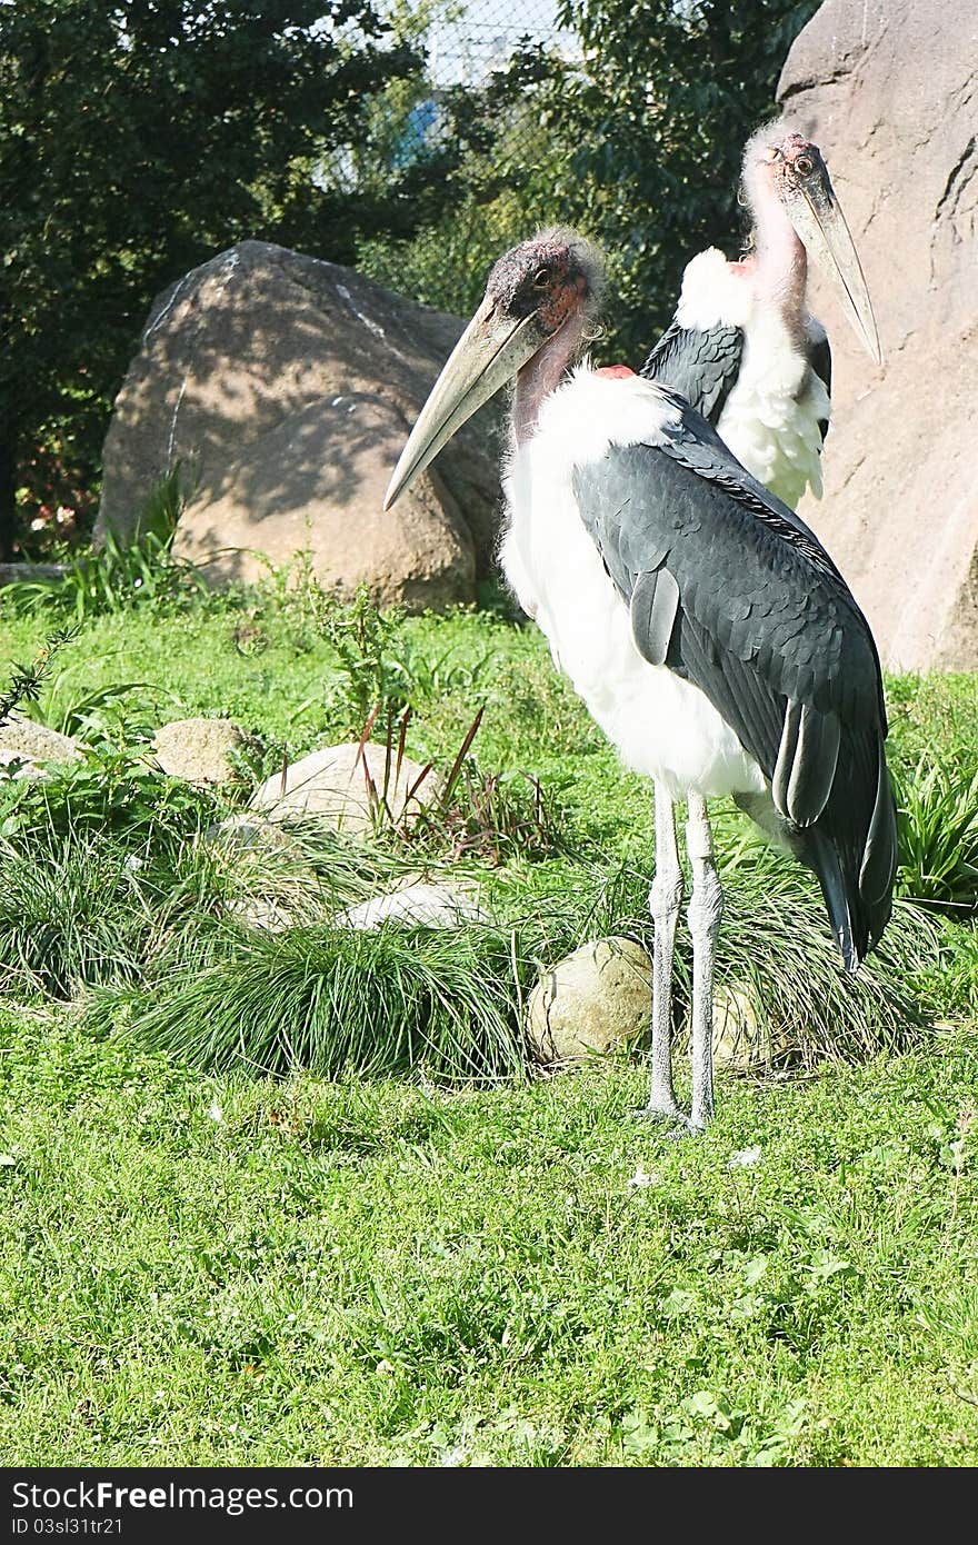
M 819 531 L 895 669 L 978 666 L 978 6 L 825 0 L 779 85 L 825 151 L 862 256 L 885 368 L 831 332 Z

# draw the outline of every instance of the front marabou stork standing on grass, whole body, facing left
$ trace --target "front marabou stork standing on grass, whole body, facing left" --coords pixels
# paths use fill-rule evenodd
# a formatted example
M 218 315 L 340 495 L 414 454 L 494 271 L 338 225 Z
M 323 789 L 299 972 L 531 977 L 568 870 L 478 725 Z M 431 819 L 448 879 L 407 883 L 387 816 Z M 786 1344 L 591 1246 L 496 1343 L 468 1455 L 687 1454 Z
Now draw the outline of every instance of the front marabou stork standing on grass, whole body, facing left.
M 623 760 L 655 783 L 649 1111 L 712 1112 L 722 893 L 706 800 L 732 794 L 822 884 L 850 970 L 890 916 L 896 867 L 879 660 L 825 548 L 680 396 L 630 371 L 570 371 L 601 292 L 567 230 L 490 273 L 400 456 L 385 505 L 516 377 L 502 565 Z M 692 865 L 692 1111 L 675 1103 L 671 978 Z

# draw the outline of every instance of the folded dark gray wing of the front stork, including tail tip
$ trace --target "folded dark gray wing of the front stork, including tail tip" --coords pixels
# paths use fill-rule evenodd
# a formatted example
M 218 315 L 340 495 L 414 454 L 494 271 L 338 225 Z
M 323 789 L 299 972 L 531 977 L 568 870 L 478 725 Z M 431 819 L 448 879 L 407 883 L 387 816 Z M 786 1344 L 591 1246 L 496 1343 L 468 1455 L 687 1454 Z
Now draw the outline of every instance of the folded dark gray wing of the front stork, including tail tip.
M 887 924 L 896 871 L 873 637 L 805 522 L 663 397 L 675 414 L 654 443 L 575 470 L 581 519 L 641 655 L 698 686 L 769 780 L 854 969 Z

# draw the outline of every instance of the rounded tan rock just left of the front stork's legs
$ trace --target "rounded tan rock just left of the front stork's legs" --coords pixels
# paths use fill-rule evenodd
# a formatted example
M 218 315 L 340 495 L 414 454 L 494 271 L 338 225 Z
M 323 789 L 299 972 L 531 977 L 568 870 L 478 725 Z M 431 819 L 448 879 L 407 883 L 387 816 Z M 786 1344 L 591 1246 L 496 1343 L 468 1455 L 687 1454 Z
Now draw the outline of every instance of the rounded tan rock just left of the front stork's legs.
M 542 1061 L 572 1061 L 647 1035 L 650 1012 L 646 950 L 633 939 L 596 939 L 541 976 L 527 1006 L 527 1034 Z

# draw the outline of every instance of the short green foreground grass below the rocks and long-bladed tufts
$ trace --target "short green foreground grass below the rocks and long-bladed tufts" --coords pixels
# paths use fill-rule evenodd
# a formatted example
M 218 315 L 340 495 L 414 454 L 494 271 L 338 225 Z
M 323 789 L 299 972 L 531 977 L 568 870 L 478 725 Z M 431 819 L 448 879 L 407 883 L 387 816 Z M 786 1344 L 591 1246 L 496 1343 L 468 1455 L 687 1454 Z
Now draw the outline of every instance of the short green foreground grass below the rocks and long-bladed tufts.
M 686 1145 L 620 1065 L 447 1092 L 5 1040 L 11 1463 L 975 1460 L 973 1037 L 722 1080 Z

